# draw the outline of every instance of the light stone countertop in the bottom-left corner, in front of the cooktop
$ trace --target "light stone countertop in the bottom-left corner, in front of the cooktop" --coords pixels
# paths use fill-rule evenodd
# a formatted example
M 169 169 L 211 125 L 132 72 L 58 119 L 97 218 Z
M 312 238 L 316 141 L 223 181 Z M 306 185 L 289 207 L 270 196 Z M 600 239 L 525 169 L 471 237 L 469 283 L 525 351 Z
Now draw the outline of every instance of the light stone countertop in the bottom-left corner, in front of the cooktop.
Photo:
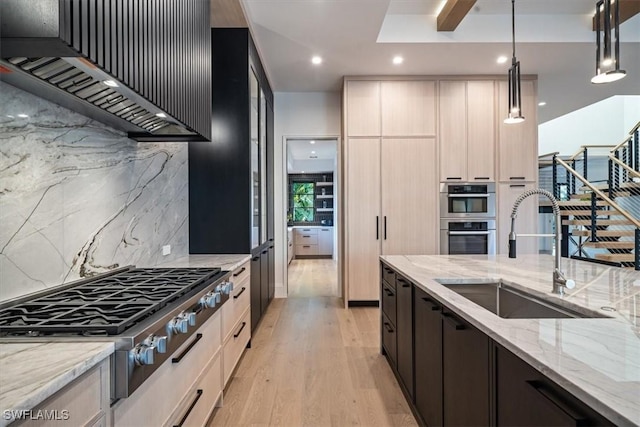
M 112 342 L 0 344 L 0 427 L 4 411 L 35 408 L 113 352 Z

